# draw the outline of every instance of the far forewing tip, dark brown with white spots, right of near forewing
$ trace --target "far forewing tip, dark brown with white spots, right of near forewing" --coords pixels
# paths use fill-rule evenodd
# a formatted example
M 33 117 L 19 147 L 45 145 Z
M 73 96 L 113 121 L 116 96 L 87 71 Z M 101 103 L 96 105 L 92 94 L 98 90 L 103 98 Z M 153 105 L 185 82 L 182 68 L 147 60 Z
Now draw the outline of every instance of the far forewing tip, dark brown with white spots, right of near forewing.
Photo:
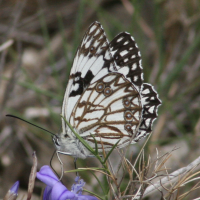
M 110 42 L 111 54 L 117 71 L 131 81 L 138 91 L 143 84 L 141 55 L 134 38 L 126 32 L 120 33 Z

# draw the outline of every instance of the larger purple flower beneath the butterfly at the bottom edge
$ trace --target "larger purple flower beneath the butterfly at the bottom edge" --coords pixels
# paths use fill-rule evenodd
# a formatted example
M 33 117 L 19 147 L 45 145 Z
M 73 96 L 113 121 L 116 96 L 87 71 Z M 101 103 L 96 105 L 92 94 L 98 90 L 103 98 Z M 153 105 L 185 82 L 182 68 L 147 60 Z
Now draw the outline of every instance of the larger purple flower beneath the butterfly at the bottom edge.
M 72 190 L 69 191 L 47 165 L 41 167 L 40 171 L 37 172 L 37 178 L 47 185 L 43 200 L 98 200 L 93 196 L 82 195 L 82 187 L 85 182 L 79 181 L 79 177 L 76 177 L 76 184 L 73 184 Z

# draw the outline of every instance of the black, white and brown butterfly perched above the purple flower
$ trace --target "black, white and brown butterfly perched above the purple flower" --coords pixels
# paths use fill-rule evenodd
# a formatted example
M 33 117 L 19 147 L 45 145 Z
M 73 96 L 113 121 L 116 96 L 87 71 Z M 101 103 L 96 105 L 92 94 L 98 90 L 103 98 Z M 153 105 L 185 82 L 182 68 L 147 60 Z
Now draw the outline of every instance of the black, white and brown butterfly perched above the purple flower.
M 152 131 L 161 104 L 143 83 L 141 55 L 127 32 L 110 43 L 99 22 L 87 29 L 77 49 L 62 105 L 62 116 L 93 148 L 110 150 L 136 143 Z M 85 159 L 90 152 L 62 119 L 53 137 L 57 151 Z

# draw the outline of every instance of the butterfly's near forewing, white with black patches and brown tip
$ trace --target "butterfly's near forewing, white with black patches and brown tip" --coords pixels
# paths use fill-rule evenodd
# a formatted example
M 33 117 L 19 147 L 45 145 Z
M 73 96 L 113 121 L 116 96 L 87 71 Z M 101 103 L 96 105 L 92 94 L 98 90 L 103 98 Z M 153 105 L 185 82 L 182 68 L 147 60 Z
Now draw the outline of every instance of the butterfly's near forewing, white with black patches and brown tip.
M 77 50 L 64 96 L 62 116 L 69 121 L 72 109 L 91 81 L 98 80 L 114 69 L 105 32 L 99 22 L 94 22 Z M 62 127 L 64 131 L 67 129 L 64 120 Z

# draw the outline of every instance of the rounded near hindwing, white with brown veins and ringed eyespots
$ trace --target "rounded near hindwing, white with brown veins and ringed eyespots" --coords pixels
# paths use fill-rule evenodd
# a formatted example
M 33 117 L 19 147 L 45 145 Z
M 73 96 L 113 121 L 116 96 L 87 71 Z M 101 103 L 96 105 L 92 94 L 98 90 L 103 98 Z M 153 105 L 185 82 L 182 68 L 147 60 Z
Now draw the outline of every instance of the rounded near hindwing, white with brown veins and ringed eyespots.
M 130 142 L 140 124 L 140 94 L 120 73 L 109 73 L 89 85 L 72 111 L 70 124 L 81 137 L 99 148 Z M 91 136 L 92 135 L 92 136 Z

